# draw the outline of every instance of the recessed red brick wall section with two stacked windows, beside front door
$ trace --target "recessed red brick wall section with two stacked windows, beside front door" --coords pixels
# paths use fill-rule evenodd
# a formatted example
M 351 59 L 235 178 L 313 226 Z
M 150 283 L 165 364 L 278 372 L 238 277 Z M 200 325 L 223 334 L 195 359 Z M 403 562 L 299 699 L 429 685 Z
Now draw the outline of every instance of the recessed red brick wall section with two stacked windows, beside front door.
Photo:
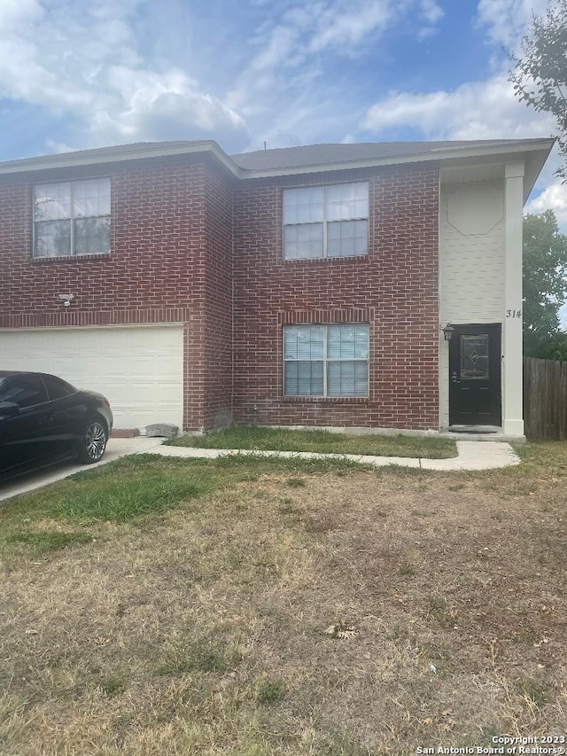
M 369 255 L 282 259 L 282 190 L 369 181 Z M 439 427 L 439 170 L 243 182 L 234 204 L 237 422 Z M 284 323 L 368 322 L 369 398 L 283 397 Z

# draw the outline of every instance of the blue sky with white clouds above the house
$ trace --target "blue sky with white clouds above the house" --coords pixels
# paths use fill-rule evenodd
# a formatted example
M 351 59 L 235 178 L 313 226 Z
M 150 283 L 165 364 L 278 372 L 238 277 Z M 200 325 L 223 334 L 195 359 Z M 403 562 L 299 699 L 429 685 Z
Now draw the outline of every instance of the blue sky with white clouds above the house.
M 505 50 L 547 0 L 1 0 L 0 160 L 144 140 L 226 152 L 549 136 Z M 527 209 L 567 230 L 548 162 Z

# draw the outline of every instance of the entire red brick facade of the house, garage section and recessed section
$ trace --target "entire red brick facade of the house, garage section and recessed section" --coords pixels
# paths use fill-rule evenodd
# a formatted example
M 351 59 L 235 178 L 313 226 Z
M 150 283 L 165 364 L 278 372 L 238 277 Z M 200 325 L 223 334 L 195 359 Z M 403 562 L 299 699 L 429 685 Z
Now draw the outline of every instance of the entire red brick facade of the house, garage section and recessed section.
M 111 254 L 34 261 L 34 183 L 95 175 L 111 178 Z M 358 179 L 370 186 L 368 257 L 284 262 L 282 188 Z M 4 177 L 0 327 L 185 323 L 185 429 L 233 411 L 438 427 L 438 184 L 432 165 L 236 184 L 204 156 Z M 70 308 L 58 292 L 74 293 Z M 370 324 L 369 399 L 283 398 L 283 324 L 348 321 Z

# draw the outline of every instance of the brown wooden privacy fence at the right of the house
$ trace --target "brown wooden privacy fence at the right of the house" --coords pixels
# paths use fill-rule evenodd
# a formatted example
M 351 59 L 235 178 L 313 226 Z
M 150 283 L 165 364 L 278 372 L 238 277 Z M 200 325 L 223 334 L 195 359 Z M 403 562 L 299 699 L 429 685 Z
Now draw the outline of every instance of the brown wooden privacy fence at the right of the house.
M 567 439 L 567 362 L 524 357 L 524 432 Z

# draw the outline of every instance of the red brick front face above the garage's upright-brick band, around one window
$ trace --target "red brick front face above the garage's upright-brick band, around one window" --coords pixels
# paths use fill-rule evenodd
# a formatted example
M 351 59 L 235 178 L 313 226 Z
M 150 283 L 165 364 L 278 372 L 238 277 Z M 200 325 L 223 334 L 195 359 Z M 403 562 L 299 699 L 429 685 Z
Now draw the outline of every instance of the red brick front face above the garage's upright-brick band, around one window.
M 111 178 L 111 254 L 33 260 L 34 183 L 95 175 Z M 74 292 L 67 316 L 92 313 L 93 322 L 103 312 L 185 308 L 202 292 L 203 165 L 148 161 L 10 179 L 0 182 L 0 276 L 8 294 L 0 298 L 0 325 L 8 324 L 6 317 L 27 314 L 43 324 L 62 310 L 58 292 Z

